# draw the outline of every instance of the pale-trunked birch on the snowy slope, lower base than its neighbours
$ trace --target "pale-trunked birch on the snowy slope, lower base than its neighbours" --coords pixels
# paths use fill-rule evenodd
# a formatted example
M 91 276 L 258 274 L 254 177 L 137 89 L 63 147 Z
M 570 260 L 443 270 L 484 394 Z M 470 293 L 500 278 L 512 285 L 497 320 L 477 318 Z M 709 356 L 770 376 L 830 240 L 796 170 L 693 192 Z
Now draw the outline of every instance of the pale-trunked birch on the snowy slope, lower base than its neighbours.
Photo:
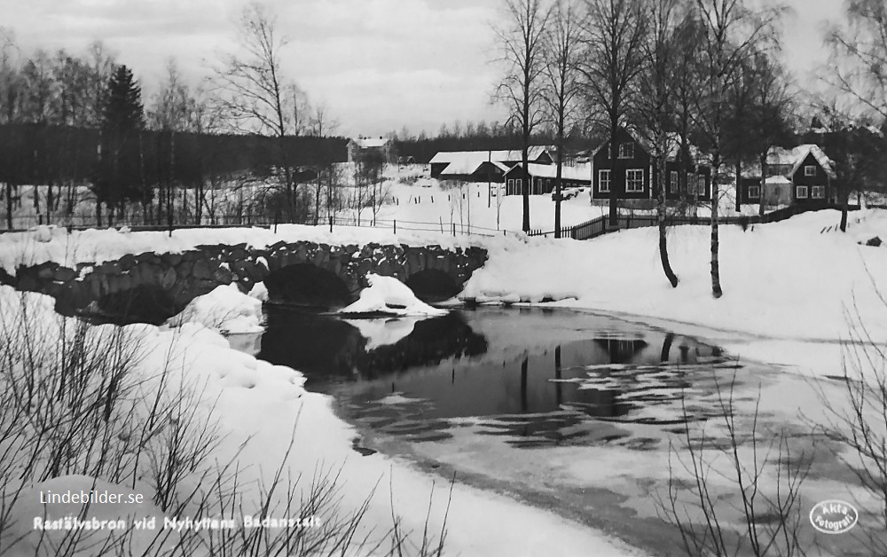
M 764 51 L 766 43 L 776 43 L 774 26 L 785 8 L 771 5 L 753 11 L 745 0 L 695 0 L 695 4 L 704 31 L 700 51 L 705 77 L 698 96 L 697 124 L 711 147 L 711 295 L 720 298 L 724 292 L 720 284 L 718 177 L 730 114 L 730 86 L 753 46 Z

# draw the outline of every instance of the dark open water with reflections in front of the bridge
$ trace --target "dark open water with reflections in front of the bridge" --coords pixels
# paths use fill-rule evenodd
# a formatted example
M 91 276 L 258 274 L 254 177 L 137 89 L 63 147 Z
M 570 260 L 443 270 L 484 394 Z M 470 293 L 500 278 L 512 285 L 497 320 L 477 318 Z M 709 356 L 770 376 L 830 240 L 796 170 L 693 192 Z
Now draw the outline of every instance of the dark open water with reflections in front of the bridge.
M 501 308 L 416 322 L 270 309 L 259 357 L 302 370 L 369 428 L 434 440 L 472 424 L 521 446 L 607 442 L 628 435 L 620 422 L 679 424 L 681 396 L 734 367 L 717 347 L 613 318 Z

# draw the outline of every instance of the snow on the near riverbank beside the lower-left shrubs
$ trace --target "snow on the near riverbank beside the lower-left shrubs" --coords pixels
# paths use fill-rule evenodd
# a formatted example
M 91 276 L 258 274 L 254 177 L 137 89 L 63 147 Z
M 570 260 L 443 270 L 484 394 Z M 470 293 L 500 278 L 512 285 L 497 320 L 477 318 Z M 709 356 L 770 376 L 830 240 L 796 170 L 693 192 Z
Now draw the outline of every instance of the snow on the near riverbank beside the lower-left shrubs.
M 24 294 L 23 297 L 32 319 L 46 322 L 58 319 L 45 296 Z M 12 288 L 0 286 L 0 307 L 5 318 L 10 318 L 20 307 L 19 299 Z M 450 499 L 449 486 L 404 461 L 380 453 L 358 455 L 352 450 L 355 431 L 335 416 L 329 396 L 307 392 L 302 388 L 301 373 L 234 350 L 220 333 L 206 326 L 185 323 L 175 329 L 144 325 L 126 329 L 141 345 L 144 357 L 139 360 L 137 373 L 141 373 L 145 381 L 154 380 L 158 369 L 169 366 L 181 373 L 178 380 L 200 387 L 199 404 L 205 405 L 207 412 L 210 407 L 214 409 L 221 427 L 223 442 L 212 457 L 219 462 L 237 459 L 241 470 L 239 484 L 255 490 L 252 493 L 255 500 L 259 493 L 253 480 L 259 477 L 268 480 L 280 463 L 286 462 L 293 477 L 310 478 L 316 475 L 318 467 L 339 471 L 340 506 L 345 513 L 357 510 L 375 491 L 364 524 L 374 528 L 377 536 L 390 528 L 392 505 L 393 512 L 402 518 L 404 530 L 413 535 L 420 533 L 426 526 L 429 498 L 433 494 L 428 528 L 430 532 L 440 532 L 449 505 L 448 554 L 614 557 L 637 554 L 597 531 L 555 514 L 458 482 Z M 171 384 L 178 384 L 178 380 L 172 379 Z M 293 435 L 294 451 L 287 458 Z M 35 494 L 41 488 L 77 490 L 83 485 L 82 477 L 63 477 L 35 486 L 30 493 Z M 100 483 L 98 487 L 104 485 Z M 149 490 L 146 486 L 137 488 L 142 492 Z M 120 487 L 119 491 L 129 490 Z M 12 554 L 27 554 L 28 544 L 39 534 L 37 530 L 30 530 L 30 525 L 35 508 L 42 507 L 35 507 L 33 501 L 26 499 L 22 499 L 13 513 L 24 519 L 22 533 L 29 533 L 29 541 L 23 545 L 22 553 Z M 246 500 L 243 511 L 257 514 L 257 507 L 248 506 L 248 495 Z M 55 510 L 64 512 L 62 508 Z M 96 505 L 90 513 L 107 514 L 106 510 Z M 135 507 L 129 510 L 138 511 Z

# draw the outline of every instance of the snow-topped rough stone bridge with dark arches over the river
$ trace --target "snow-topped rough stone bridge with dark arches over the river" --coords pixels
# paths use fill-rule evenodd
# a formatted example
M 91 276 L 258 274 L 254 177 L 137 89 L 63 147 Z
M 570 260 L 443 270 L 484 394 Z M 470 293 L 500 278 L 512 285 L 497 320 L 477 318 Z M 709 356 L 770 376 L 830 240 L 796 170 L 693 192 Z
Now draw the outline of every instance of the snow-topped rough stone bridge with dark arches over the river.
M 20 267 L 3 282 L 53 296 L 66 315 L 160 323 L 216 286 L 237 284 L 247 292 L 262 281 L 270 302 L 343 307 L 357 300 L 368 272 L 396 277 L 420 299 L 437 302 L 459 294 L 486 259 L 481 247 L 281 241 L 264 248 L 207 245 L 178 254 L 123 255 L 75 269 L 42 263 Z

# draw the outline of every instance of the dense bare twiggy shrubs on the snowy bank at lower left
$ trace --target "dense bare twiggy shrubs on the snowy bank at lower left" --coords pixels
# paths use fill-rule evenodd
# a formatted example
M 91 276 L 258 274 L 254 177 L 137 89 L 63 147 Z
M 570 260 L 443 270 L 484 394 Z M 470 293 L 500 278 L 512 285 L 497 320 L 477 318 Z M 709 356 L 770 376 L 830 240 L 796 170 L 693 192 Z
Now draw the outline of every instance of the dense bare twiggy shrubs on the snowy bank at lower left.
M 145 373 L 150 347 L 138 326 L 92 326 L 39 307 L 51 302 L 46 297 L 20 294 L 13 302 L 6 294 L 0 292 L 0 554 L 17 551 L 23 541 L 13 522 L 23 494 L 34 483 L 67 475 L 132 490 L 146 486 L 154 506 L 169 517 L 238 523 L 220 530 L 158 529 L 147 542 L 137 540 L 131 527 L 112 534 L 41 533 L 38 555 L 443 553 L 445 519 L 437 540 L 428 536 L 427 523 L 421 539 L 413 541 L 393 509 L 392 527 L 378 531 L 365 523 L 373 492 L 356 508 L 345 508 L 341 468 L 318 465 L 310 477 L 295 475 L 288 463 L 294 435 L 270 478 L 244 479 L 255 475 L 239 464 L 249 440 L 231 459 L 217 460 L 225 439 L 216 404 L 207 385 L 186 380 L 187 370 L 176 368 L 182 348 L 176 341 L 161 358 L 161 369 Z M 82 507 L 81 520 L 89 511 Z M 240 520 L 246 515 L 296 522 L 288 528 L 246 528 Z

